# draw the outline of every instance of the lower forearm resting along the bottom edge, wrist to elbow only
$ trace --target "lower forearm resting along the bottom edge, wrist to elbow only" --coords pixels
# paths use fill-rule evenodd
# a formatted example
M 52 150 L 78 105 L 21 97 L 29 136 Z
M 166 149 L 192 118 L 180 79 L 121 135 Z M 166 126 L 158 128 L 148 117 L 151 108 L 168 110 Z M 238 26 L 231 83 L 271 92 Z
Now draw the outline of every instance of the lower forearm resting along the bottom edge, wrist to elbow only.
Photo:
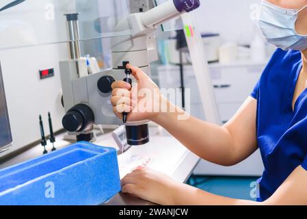
M 261 205 L 256 201 L 217 196 L 190 185 L 177 183 L 163 205 Z

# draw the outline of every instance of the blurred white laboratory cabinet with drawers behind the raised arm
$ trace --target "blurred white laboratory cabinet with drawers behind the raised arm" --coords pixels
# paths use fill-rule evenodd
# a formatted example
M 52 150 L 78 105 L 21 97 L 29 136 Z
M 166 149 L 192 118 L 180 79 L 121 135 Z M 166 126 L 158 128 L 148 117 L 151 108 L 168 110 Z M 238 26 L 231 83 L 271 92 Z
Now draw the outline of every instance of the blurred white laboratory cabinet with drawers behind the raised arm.
M 227 123 L 245 99 L 250 96 L 264 68 L 265 63 L 252 62 L 209 64 L 209 73 L 211 74 L 221 125 Z M 178 66 L 159 66 L 157 69 L 160 88 L 181 88 Z M 193 66 L 185 66 L 183 74 L 185 88 L 188 89 L 185 95 L 186 110 L 192 116 L 205 120 Z M 176 105 L 181 106 L 181 98 L 177 96 L 176 100 Z M 232 167 L 222 167 L 202 161 L 194 173 L 197 175 L 261 176 L 263 164 L 259 151 L 256 151 L 244 162 Z

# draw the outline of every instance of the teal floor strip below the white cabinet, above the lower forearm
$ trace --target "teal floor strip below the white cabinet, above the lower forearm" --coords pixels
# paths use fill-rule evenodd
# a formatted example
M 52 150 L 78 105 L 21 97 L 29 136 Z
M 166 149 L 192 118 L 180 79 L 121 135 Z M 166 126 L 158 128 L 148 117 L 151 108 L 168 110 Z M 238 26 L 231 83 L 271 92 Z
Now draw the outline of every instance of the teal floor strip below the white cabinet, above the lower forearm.
M 213 194 L 256 201 L 257 179 L 258 177 L 205 177 L 193 175 L 188 184 Z

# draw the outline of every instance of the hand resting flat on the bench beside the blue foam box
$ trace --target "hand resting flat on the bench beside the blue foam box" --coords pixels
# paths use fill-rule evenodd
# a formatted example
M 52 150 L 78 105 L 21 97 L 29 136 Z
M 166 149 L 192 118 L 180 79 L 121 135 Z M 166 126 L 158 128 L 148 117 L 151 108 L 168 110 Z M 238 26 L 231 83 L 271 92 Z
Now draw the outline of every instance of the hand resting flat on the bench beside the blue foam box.
M 147 168 L 131 172 L 122 179 L 122 192 L 159 205 L 173 205 L 178 183 L 161 172 Z

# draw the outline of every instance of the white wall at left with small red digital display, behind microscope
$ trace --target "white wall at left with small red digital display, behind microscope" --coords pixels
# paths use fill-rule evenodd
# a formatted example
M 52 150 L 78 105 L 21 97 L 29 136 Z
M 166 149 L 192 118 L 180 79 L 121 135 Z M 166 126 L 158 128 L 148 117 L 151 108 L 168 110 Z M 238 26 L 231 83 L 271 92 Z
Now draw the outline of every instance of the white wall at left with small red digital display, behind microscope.
M 68 57 L 68 50 L 66 43 L 49 43 L 66 40 L 63 14 L 71 12 L 73 4 L 70 0 L 29 0 L 0 13 L 0 62 L 13 138 L 8 153 L 40 139 L 39 114 L 44 117 L 46 135 L 48 112 L 53 116 L 54 130 L 62 129 L 59 60 Z M 41 45 L 3 49 L 29 44 Z M 46 68 L 54 68 L 55 77 L 40 80 L 39 70 Z

